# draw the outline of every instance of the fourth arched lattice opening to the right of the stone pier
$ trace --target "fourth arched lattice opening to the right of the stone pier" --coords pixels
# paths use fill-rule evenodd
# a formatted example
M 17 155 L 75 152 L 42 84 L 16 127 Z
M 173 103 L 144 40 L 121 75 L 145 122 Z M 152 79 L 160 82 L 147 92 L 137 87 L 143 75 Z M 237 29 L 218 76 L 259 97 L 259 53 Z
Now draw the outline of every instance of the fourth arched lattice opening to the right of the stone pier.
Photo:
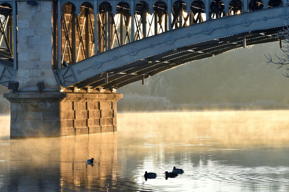
M 112 47 L 117 47 L 130 42 L 130 6 L 127 2 L 121 1 L 116 5 L 116 15 L 113 22 Z

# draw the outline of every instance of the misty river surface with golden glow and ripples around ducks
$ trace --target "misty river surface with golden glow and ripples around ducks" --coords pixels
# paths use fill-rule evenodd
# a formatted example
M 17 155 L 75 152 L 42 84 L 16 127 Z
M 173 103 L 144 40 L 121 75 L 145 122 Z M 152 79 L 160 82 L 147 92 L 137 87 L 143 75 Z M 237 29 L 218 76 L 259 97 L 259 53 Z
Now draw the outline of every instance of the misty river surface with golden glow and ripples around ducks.
M 26 139 L 2 116 L 0 191 L 289 191 L 288 113 L 118 113 L 114 134 Z

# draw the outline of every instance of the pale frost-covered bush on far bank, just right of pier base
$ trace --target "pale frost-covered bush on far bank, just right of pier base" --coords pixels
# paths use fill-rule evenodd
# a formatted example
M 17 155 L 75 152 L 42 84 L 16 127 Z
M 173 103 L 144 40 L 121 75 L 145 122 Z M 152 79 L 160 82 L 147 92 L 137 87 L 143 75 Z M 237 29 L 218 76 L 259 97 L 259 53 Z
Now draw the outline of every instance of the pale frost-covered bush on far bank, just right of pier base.
M 172 103 L 165 97 L 140 95 L 137 93 L 123 94 L 117 102 L 118 111 L 152 111 L 170 109 Z

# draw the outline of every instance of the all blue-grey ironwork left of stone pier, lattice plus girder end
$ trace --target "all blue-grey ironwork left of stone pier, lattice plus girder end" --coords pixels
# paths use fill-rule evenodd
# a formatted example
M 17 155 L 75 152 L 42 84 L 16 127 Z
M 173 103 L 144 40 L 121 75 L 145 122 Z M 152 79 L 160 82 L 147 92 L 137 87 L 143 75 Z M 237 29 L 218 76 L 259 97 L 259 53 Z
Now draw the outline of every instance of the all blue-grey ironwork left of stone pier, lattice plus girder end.
M 16 1 L 0 1 L 0 84 L 16 76 Z

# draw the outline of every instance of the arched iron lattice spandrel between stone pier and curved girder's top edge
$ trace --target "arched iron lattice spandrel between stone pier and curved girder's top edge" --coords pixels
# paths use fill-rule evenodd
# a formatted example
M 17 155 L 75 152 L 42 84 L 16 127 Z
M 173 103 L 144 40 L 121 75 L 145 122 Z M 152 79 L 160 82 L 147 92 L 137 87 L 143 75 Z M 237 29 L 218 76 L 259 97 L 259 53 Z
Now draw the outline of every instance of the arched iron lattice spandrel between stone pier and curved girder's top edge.
M 61 21 L 58 68 L 171 29 L 286 3 L 281 0 L 58 1 Z

